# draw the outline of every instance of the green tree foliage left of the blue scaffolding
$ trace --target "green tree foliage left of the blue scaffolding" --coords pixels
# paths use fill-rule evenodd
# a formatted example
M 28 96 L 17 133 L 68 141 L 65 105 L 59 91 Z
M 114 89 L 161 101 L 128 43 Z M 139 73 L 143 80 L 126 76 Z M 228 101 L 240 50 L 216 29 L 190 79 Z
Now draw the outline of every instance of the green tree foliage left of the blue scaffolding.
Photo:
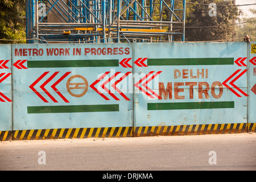
M 25 0 L 0 0 L 0 43 L 25 43 L 25 15 Z

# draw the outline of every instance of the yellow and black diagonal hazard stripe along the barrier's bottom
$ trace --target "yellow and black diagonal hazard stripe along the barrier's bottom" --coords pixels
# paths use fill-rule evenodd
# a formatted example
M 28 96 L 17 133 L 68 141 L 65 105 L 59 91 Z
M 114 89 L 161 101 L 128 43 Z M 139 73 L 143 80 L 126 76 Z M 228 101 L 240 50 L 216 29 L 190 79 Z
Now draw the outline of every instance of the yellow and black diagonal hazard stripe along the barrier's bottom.
M 15 130 L 0 131 L 0 140 L 147 137 L 156 135 L 232 134 L 245 132 L 256 132 L 256 123 Z

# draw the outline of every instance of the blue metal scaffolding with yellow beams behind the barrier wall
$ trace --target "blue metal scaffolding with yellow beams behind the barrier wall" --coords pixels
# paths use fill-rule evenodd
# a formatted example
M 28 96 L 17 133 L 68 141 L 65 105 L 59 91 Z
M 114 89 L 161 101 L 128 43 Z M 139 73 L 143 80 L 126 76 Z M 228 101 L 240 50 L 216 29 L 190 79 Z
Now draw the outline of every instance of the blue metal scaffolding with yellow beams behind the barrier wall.
M 26 0 L 27 43 L 185 39 L 185 0 Z

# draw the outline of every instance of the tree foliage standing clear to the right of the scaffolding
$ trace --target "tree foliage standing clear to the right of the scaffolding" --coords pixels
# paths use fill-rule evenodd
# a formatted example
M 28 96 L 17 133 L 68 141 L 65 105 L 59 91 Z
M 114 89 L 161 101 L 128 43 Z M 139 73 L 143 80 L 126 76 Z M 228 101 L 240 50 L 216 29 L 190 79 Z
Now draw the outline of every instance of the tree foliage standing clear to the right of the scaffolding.
M 230 39 L 233 32 L 232 20 L 238 20 L 242 11 L 232 6 L 232 1 L 191 0 L 194 6 L 187 15 L 186 41 L 211 41 Z M 210 16 L 210 3 L 216 4 L 216 16 Z

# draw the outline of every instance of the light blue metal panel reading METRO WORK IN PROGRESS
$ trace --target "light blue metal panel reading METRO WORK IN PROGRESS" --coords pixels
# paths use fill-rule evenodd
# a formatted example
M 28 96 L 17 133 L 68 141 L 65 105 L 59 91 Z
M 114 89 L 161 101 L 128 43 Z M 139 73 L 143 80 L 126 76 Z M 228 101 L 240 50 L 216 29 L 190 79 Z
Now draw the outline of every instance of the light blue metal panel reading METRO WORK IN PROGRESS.
M 131 44 L 14 45 L 14 130 L 133 126 L 131 58 Z

